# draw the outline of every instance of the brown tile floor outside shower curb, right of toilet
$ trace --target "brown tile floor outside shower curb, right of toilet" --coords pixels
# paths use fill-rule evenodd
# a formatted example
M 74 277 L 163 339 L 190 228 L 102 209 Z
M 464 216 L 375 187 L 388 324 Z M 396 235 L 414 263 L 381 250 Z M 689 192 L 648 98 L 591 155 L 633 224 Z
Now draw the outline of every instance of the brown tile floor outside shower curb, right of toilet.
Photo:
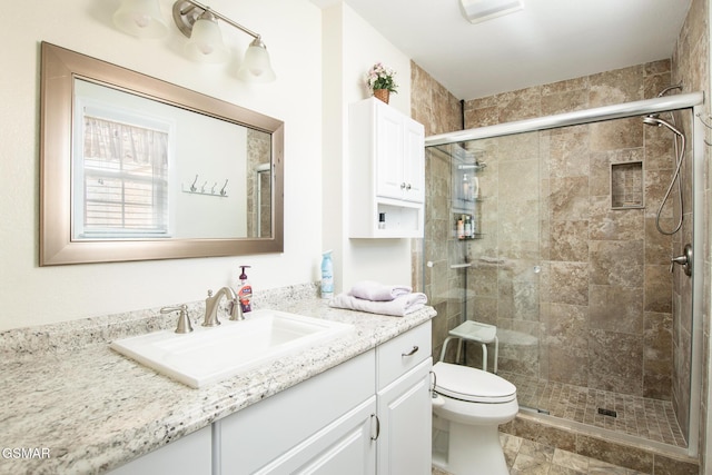
M 508 434 L 500 433 L 500 441 L 510 475 L 650 475 Z M 449 474 L 433 467 L 433 475 Z

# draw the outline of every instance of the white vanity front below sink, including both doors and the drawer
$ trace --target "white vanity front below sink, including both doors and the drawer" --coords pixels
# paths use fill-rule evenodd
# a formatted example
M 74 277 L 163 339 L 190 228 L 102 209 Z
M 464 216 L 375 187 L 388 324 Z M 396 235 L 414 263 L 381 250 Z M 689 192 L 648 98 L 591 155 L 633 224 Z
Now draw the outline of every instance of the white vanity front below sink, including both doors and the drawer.
M 429 474 L 431 367 L 427 321 L 218 420 L 214 474 Z

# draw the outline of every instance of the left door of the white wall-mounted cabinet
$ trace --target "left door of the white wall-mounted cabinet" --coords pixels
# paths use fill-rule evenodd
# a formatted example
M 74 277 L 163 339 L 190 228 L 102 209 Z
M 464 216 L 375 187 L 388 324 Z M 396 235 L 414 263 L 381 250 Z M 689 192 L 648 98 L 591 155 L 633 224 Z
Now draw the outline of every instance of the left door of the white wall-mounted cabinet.
M 376 195 L 402 198 L 403 181 L 403 116 L 386 105 L 376 105 Z

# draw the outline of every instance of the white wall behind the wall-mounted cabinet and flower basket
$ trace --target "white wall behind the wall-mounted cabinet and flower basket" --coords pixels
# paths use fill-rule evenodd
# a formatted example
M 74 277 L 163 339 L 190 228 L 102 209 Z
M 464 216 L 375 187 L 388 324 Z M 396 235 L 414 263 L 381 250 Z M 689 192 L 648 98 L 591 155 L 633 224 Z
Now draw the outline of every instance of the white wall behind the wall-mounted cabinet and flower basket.
M 317 0 L 315 0 L 317 1 Z M 318 1 L 317 1 L 318 2 Z M 390 106 L 411 115 L 411 60 L 348 6 L 336 2 L 324 10 L 324 244 L 334 249 L 336 290 L 348 290 L 360 279 L 386 284 L 411 283 L 409 239 L 349 239 L 346 232 L 348 179 L 348 105 L 369 97 L 364 77 L 375 62 L 396 70 L 398 93 Z M 339 117 L 339 120 L 335 118 Z

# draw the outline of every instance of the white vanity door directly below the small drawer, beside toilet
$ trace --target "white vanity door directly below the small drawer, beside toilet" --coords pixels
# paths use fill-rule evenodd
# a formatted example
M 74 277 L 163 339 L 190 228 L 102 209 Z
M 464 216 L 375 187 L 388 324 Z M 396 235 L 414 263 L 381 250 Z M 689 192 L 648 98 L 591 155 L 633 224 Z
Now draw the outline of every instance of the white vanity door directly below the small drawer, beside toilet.
M 429 475 L 432 471 L 431 367 L 427 358 L 378 392 L 379 474 Z

